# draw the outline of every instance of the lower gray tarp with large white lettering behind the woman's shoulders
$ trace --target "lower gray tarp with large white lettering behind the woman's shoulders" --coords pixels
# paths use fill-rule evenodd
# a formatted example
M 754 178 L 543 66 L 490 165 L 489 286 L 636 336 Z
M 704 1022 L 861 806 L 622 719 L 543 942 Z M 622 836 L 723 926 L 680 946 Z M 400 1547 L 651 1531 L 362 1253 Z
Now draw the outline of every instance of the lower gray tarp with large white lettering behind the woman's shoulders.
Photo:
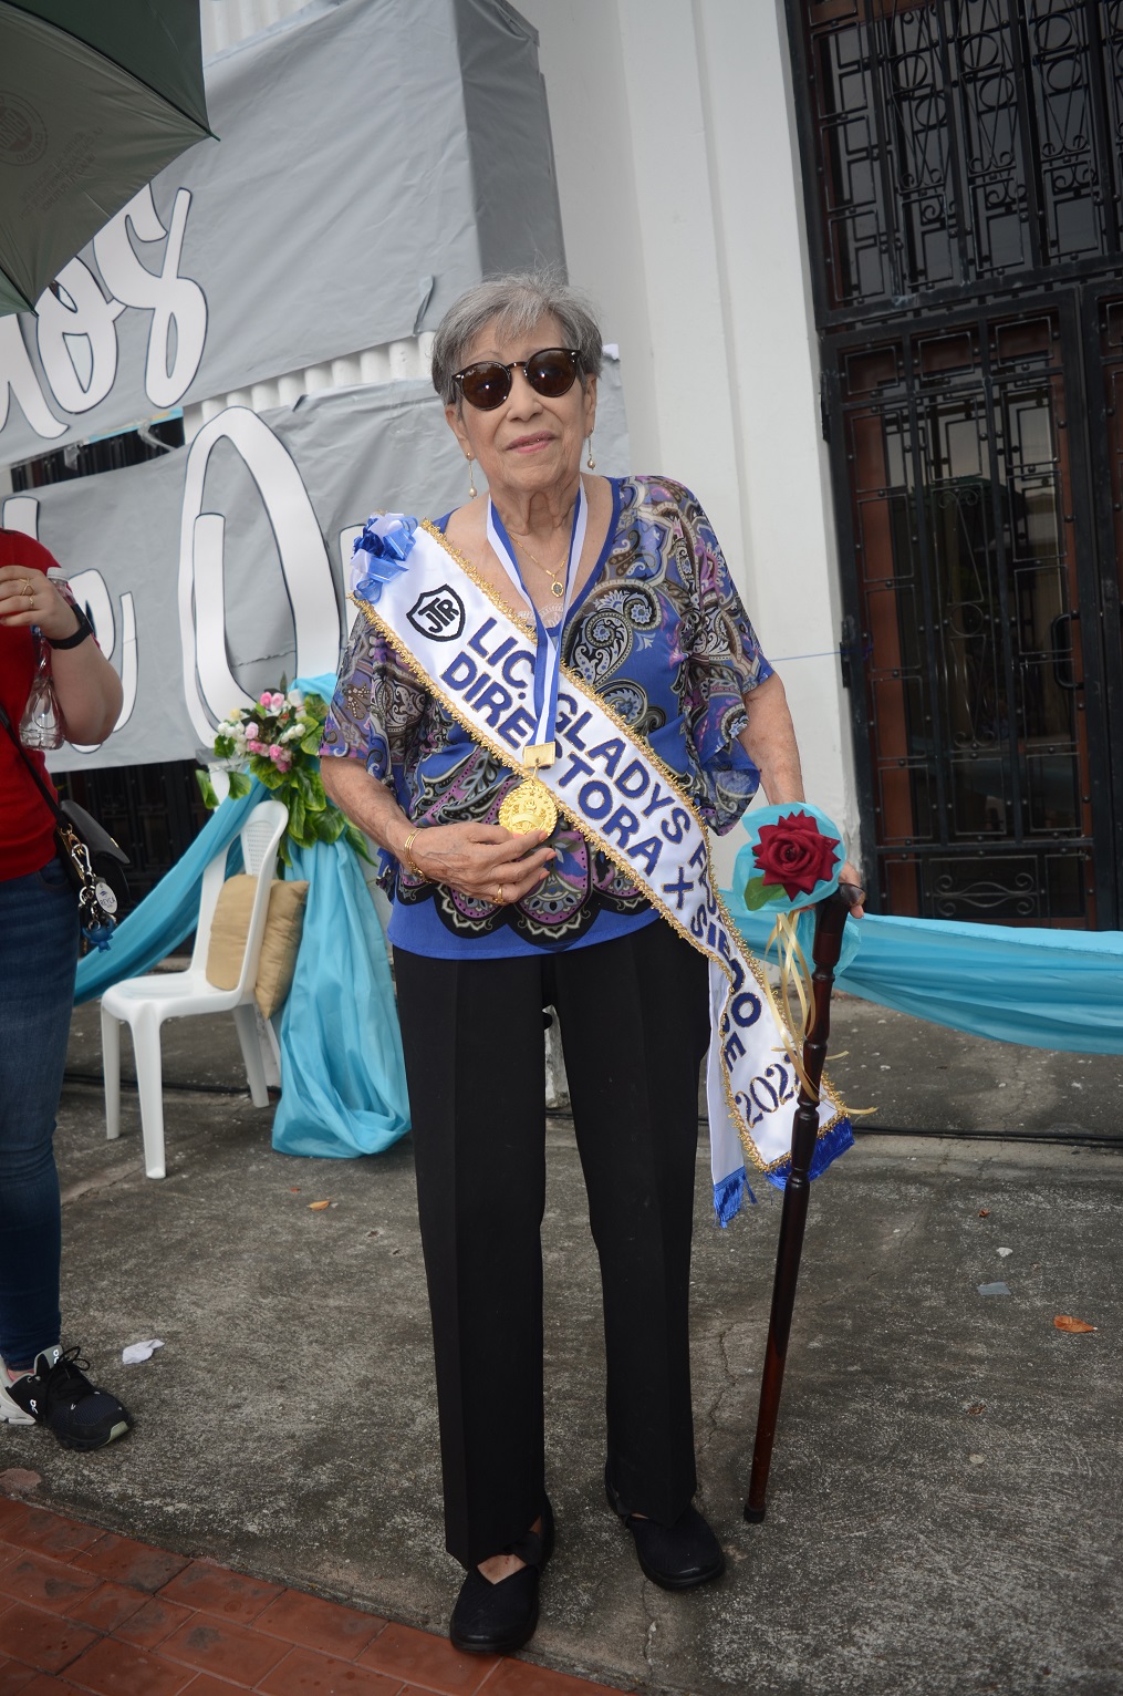
M 628 466 L 620 370 L 605 360 L 600 471 Z M 376 509 L 440 517 L 467 495 L 464 456 L 427 383 L 230 407 L 190 448 L 15 495 L 0 519 L 68 572 L 122 675 L 117 733 L 56 770 L 190 760 L 213 722 L 281 675 L 334 672 L 344 561 Z

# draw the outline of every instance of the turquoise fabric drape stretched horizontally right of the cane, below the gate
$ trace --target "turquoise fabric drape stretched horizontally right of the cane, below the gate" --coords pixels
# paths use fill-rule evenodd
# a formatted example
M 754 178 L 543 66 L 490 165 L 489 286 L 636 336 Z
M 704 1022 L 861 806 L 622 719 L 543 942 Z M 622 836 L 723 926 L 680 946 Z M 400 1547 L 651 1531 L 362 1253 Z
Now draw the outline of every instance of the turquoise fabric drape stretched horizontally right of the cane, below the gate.
M 752 873 L 737 855 L 733 890 Z M 771 914 L 725 894 L 761 955 Z M 805 924 L 801 921 L 801 940 Z M 806 941 L 805 941 L 806 946 Z M 866 914 L 847 919 L 838 989 L 972 1036 L 1064 1053 L 1123 1053 L 1123 933 L 1045 931 Z

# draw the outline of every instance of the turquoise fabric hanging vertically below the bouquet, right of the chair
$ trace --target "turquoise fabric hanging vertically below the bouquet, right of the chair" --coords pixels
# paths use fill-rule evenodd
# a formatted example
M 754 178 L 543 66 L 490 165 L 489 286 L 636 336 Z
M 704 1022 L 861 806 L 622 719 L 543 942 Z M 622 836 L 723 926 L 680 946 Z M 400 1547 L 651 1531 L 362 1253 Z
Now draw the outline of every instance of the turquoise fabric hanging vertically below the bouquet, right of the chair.
M 346 841 L 291 848 L 308 879 L 305 931 L 281 1009 L 281 1099 L 273 1146 L 286 1155 L 373 1155 L 410 1128 L 386 941 Z

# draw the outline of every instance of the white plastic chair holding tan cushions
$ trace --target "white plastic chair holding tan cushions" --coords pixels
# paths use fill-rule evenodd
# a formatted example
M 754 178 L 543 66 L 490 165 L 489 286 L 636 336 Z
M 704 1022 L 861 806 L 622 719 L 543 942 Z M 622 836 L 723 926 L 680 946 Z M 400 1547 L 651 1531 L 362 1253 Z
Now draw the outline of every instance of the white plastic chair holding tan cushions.
M 251 909 L 242 970 L 234 989 L 215 989 L 207 982 L 210 928 L 225 882 L 224 848 L 203 872 L 203 889 L 195 929 L 195 951 L 186 972 L 156 972 L 129 977 L 102 996 L 102 1072 L 105 1077 L 105 1135 L 120 1136 L 120 1026 L 132 1028 L 132 1052 L 137 1063 L 141 1096 L 141 1131 L 144 1136 L 144 1170 L 164 1177 L 164 1091 L 159 1028 L 164 1019 L 183 1019 L 193 1013 L 234 1013 L 237 1040 L 246 1062 L 249 1094 L 256 1107 L 269 1104 L 261 1063 L 254 984 L 257 958 L 269 909 L 269 885 L 276 875 L 276 851 L 288 821 L 281 801 L 263 801 L 241 829 L 242 867 L 257 879 Z

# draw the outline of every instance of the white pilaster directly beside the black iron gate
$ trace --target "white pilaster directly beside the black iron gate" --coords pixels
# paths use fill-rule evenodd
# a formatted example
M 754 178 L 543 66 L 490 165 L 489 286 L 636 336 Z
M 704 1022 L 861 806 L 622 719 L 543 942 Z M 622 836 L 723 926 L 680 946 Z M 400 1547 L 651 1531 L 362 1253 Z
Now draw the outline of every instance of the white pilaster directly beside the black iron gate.
M 806 792 L 857 850 L 830 465 L 779 0 L 698 0 L 710 183 L 737 393 L 747 604 L 777 663 Z

